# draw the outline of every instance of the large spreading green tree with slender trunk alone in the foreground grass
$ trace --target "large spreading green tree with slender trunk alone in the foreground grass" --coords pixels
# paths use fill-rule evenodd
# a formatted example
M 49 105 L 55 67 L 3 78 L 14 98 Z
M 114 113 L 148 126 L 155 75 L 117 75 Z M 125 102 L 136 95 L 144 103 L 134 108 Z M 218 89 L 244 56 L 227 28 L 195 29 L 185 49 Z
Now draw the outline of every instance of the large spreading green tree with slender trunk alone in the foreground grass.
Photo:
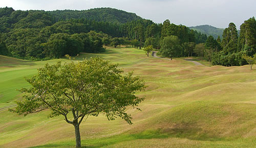
M 109 120 L 119 116 L 131 125 L 126 107 L 140 110 L 137 106 L 144 98 L 135 92 L 144 90 L 144 81 L 132 72 L 122 75 L 123 70 L 117 66 L 101 58 L 46 64 L 37 75 L 26 78 L 31 87 L 20 90 L 25 93 L 23 100 L 16 101 L 17 107 L 10 111 L 27 115 L 49 109 L 49 117 L 63 115 L 74 126 L 76 147 L 80 147 L 79 125 L 84 117 L 103 113 Z

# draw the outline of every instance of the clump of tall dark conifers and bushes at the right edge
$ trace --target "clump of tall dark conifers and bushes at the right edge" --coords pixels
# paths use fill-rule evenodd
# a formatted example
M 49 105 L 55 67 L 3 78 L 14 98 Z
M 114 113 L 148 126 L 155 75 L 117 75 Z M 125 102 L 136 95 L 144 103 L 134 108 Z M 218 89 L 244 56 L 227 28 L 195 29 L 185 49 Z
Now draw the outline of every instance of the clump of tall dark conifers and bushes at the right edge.
M 240 36 L 234 23 L 229 23 L 223 31 L 223 39 L 208 36 L 204 44 L 199 44 L 195 53 L 212 62 L 212 65 L 240 66 L 245 65 L 245 56 L 253 57 L 256 53 L 255 18 L 245 20 L 240 26 Z M 255 56 L 254 56 L 255 57 Z

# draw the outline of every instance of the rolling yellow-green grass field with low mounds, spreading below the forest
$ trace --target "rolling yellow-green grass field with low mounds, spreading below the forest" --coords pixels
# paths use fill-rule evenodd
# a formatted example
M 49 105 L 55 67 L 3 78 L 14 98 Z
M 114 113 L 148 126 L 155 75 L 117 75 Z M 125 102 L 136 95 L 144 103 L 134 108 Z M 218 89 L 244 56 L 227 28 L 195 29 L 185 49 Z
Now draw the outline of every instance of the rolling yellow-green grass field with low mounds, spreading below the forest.
M 146 100 L 142 111 L 132 108 L 134 124 L 103 115 L 82 122 L 82 146 L 87 147 L 253 147 L 256 141 L 256 70 L 245 66 L 195 66 L 146 57 L 134 48 L 107 48 L 105 53 L 82 53 L 73 61 L 102 57 L 141 76 L 148 86 L 137 93 Z M 28 87 L 24 77 L 45 63 L 67 59 L 24 61 L 0 56 L 0 108 L 13 105 Z M 208 63 L 209 64 L 209 63 Z M 210 67 L 208 67 L 210 66 Z M 19 116 L 0 111 L 0 147 L 73 147 L 74 128 L 48 111 Z

